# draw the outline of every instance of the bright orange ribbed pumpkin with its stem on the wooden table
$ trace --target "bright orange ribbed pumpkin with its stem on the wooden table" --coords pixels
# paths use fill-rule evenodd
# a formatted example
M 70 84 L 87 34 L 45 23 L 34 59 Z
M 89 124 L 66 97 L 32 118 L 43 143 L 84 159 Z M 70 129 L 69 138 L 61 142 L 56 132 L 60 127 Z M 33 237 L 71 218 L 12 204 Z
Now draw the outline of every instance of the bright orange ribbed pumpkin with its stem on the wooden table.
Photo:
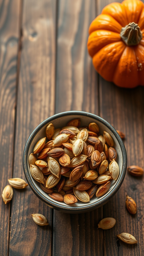
M 144 86 L 144 4 L 107 5 L 89 27 L 87 47 L 97 72 L 117 86 Z

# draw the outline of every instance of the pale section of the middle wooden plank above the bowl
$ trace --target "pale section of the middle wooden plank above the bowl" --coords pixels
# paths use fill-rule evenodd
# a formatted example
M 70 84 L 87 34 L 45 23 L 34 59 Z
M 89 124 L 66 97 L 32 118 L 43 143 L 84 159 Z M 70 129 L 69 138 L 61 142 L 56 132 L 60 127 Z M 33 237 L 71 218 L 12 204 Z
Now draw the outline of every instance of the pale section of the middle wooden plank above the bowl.
M 98 109 L 97 76 L 87 51 L 88 28 L 95 18 L 91 1 L 59 1 L 56 113 Z

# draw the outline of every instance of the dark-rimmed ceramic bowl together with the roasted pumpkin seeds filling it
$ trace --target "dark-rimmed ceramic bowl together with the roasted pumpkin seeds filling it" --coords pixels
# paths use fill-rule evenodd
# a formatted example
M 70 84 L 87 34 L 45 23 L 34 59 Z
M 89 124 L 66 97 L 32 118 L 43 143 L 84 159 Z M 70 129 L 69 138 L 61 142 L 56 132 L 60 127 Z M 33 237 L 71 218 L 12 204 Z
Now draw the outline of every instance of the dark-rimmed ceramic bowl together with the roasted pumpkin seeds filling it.
M 40 123 L 29 136 L 23 169 L 34 194 L 49 207 L 81 213 L 104 205 L 127 169 L 124 143 L 97 115 L 68 111 Z

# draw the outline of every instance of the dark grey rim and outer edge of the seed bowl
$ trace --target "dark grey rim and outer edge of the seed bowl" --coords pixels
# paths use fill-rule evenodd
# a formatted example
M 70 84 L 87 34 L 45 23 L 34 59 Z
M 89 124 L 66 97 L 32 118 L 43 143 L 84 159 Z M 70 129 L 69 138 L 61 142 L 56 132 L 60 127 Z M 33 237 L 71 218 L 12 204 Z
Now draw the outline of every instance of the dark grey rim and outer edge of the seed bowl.
M 117 138 L 118 143 L 119 143 L 120 148 L 121 148 L 121 152 L 122 152 L 122 170 L 121 170 L 120 178 L 119 178 L 119 180 L 116 184 L 116 187 L 114 186 L 114 188 L 112 188 L 110 193 L 108 195 L 106 195 L 104 198 L 102 198 L 99 201 L 93 202 L 90 205 L 88 204 L 88 205 L 85 205 L 85 206 L 69 206 L 69 205 L 64 206 L 64 205 L 60 205 L 58 201 L 56 201 L 56 202 L 51 201 L 50 199 L 46 198 L 43 194 L 41 194 L 38 191 L 38 189 L 36 188 L 35 184 L 32 181 L 32 178 L 30 177 L 30 174 L 29 174 L 29 170 L 28 170 L 28 151 L 29 151 L 30 144 L 32 143 L 34 137 L 42 129 L 42 127 L 45 126 L 47 123 L 52 122 L 53 120 L 55 120 L 57 118 L 67 116 L 67 115 L 69 115 L 69 116 L 70 115 L 89 116 L 89 117 L 95 119 L 96 121 L 99 121 L 99 122 L 103 123 L 104 125 L 106 125 L 111 130 L 111 132 Z M 122 185 L 122 182 L 123 182 L 123 180 L 125 178 L 125 175 L 126 175 L 127 153 L 126 153 L 126 148 L 125 148 L 125 145 L 124 145 L 121 137 L 119 136 L 119 134 L 117 133 L 115 128 L 111 124 L 109 124 L 106 120 L 104 120 L 100 116 L 97 116 L 97 115 L 89 113 L 89 112 L 66 111 L 66 112 L 61 112 L 61 113 L 55 114 L 55 115 L 50 116 L 49 118 L 45 119 L 30 134 L 30 136 L 29 136 L 29 138 L 28 138 L 28 140 L 25 144 L 24 152 L 23 152 L 23 170 L 24 170 L 26 180 L 27 180 L 30 188 L 34 192 L 34 194 L 40 200 L 45 202 L 49 207 L 54 208 L 54 209 L 59 210 L 59 211 L 62 211 L 62 212 L 67 212 L 67 213 L 82 213 L 82 212 L 92 211 L 92 210 L 95 210 L 96 208 L 101 207 L 102 205 L 104 205 L 108 200 L 110 200 L 116 194 L 116 192 L 118 191 L 118 189 Z

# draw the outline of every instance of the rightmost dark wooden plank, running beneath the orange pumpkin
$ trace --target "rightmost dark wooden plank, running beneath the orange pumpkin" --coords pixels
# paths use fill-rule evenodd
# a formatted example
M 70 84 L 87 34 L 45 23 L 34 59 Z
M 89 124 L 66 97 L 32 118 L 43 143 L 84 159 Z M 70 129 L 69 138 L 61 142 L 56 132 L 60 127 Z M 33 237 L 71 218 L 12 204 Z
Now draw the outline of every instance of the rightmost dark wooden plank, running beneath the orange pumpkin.
M 112 1 L 109 1 L 109 3 Z M 99 10 L 107 5 L 99 2 Z M 116 87 L 99 77 L 100 116 L 111 123 L 115 129 L 126 134 L 124 144 L 127 151 L 128 166 L 144 166 L 142 115 L 143 105 L 140 87 L 123 89 Z M 133 177 L 128 173 L 117 194 L 103 207 L 104 217 L 114 217 L 114 228 L 104 230 L 104 255 L 143 255 L 143 178 Z M 132 216 L 126 209 L 126 194 L 137 203 L 137 214 Z M 118 240 L 116 235 L 128 232 L 138 240 L 130 246 Z

